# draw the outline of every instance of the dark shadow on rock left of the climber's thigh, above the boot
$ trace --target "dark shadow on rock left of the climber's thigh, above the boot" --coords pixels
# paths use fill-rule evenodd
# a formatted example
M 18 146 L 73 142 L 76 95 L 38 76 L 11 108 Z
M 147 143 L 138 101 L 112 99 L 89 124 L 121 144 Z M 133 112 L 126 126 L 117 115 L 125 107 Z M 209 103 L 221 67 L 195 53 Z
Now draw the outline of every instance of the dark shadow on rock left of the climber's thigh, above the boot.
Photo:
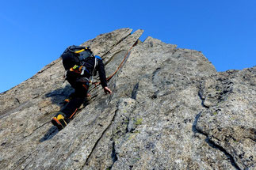
M 63 106 L 64 100 L 74 92 L 71 85 L 66 85 L 65 88 L 55 89 L 54 91 L 45 94 L 46 97 L 51 97 L 52 104 Z

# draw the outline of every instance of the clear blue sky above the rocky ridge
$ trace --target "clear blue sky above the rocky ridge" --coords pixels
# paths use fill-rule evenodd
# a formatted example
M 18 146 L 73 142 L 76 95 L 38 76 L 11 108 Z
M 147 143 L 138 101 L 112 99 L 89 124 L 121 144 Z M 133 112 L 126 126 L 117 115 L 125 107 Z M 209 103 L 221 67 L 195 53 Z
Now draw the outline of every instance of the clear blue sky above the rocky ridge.
M 81 44 L 117 28 L 142 28 L 202 51 L 216 70 L 256 65 L 255 0 L 6 0 L 0 3 L 0 93 Z

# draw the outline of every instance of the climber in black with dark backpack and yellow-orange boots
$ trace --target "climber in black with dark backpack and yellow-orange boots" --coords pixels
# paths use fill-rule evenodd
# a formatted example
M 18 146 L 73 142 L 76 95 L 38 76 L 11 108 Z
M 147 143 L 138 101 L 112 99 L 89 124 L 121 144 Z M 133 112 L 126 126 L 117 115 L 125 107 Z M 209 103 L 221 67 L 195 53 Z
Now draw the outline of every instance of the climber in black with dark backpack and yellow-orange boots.
M 112 91 L 107 86 L 105 77 L 105 67 L 102 59 L 93 55 L 90 47 L 70 46 L 61 55 L 63 66 L 66 70 L 66 80 L 75 89 L 71 93 L 67 102 L 53 118 L 52 124 L 58 127 L 59 130 L 67 126 L 70 119 L 74 118 L 78 108 L 82 105 L 87 96 L 90 77 L 99 74 L 101 86 L 106 94 L 111 94 Z

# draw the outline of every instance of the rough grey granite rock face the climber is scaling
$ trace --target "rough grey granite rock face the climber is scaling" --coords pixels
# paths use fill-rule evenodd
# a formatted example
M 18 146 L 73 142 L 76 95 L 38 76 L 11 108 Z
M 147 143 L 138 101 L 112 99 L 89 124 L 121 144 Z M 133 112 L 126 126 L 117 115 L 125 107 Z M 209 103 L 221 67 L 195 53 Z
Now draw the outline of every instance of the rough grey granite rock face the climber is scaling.
M 82 43 L 113 74 L 65 129 L 57 59 L 0 94 L 0 169 L 254 169 L 256 67 L 216 72 L 200 51 L 122 28 Z M 97 80 L 97 77 L 94 78 Z

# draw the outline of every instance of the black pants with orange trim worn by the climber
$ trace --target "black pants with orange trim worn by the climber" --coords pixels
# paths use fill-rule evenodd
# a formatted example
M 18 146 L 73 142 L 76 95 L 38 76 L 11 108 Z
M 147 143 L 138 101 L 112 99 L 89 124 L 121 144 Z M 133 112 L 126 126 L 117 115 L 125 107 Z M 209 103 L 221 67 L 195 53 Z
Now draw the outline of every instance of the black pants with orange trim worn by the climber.
M 87 79 L 88 80 L 88 79 Z M 86 98 L 89 83 L 85 78 L 69 77 L 67 81 L 71 87 L 75 89 L 75 93 L 71 94 L 70 102 L 61 110 L 66 115 L 67 119 L 71 119 L 78 108 L 82 105 Z

